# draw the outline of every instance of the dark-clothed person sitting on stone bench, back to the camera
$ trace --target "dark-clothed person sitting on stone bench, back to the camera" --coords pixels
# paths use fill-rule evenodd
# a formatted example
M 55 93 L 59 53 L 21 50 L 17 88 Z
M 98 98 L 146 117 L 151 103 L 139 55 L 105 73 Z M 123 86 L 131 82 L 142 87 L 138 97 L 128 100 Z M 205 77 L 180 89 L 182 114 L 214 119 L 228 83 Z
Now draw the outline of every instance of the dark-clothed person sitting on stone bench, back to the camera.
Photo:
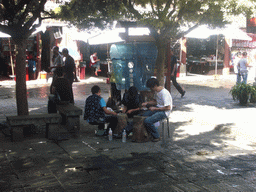
M 62 67 L 55 70 L 56 78 L 52 82 L 51 90 L 53 97 L 48 102 L 48 113 L 57 113 L 57 104 L 72 103 L 72 93 L 68 79 L 64 78 Z

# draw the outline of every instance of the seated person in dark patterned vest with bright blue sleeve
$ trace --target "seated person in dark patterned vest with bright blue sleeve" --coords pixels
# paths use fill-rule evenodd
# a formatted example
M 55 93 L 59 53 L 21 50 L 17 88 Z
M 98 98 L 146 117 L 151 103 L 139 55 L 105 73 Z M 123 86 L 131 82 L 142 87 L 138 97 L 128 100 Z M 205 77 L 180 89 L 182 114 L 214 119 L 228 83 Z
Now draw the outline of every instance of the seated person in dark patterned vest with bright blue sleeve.
M 103 134 L 108 135 L 109 129 L 111 128 L 114 131 L 117 126 L 117 113 L 107 109 L 106 102 L 101 97 L 99 86 L 94 85 L 91 92 L 92 95 L 85 101 L 84 120 L 87 120 L 91 125 L 98 125 L 99 130 L 104 130 L 104 124 L 109 123 L 106 132 Z

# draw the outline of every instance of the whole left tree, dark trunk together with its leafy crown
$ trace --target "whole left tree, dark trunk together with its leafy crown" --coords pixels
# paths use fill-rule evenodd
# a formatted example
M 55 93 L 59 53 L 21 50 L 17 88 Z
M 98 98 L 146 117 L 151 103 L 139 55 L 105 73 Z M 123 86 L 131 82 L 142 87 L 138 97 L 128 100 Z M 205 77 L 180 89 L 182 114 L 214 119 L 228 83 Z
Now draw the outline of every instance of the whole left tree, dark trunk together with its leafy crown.
M 16 103 L 18 115 L 28 115 L 26 89 L 26 44 L 28 37 L 47 18 L 47 0 L 0 0 L 0 31 L 16 44 Z

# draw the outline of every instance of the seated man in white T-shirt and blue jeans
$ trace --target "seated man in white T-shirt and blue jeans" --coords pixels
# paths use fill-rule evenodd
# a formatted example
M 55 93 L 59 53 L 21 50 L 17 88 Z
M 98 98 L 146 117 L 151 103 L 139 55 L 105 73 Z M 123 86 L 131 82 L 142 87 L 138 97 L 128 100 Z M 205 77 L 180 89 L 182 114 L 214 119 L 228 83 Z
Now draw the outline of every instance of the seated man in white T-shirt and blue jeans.
M 144 125 L 149 133 L 153 136 L 153 142 L 160 141 L 160 135 L 154 123 L 167 118 L 172 110 L 172 96 L 170 92 L 162 86 L 155 78 L 147 80 L 146 86 L 154 91 L 154 100 L 142 103 L 142 106 L 148 107 L 148 111 L 143 116 L 148 116 L 144 120 Z

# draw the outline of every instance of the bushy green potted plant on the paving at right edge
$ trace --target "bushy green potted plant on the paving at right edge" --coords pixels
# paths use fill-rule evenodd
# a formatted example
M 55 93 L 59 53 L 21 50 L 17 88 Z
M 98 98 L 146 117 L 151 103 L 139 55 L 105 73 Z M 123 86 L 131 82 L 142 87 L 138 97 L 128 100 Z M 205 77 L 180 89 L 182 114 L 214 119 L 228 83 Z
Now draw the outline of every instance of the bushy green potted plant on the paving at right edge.
M 249 100 L 249 96 L 251 97 L 250 102 L 256 98 L 256 89 L 249 84 L 239 83 L 231 88 L 230 94 L 233 99 L 238 100 L 241 105 L 246 105 Z

